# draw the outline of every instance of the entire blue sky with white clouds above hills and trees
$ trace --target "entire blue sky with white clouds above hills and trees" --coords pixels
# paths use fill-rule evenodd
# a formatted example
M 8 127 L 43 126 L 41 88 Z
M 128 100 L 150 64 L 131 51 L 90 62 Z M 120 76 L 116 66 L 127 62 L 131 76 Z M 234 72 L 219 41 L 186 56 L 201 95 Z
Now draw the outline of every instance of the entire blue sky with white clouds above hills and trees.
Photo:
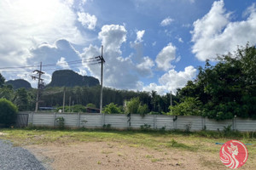
M 159 94 L 183 88 L 216 54 L 256 43 L 253 0 L 3 0 L 0 71 L 36 87 L 55 70 L 100 77 L 88 59 L 104 47 L 104 86 Z M 76 62 L 72 62 L 76 61 Z M 214 60 L 212 60 L 214 64 Z M 22 66 L 34 67 L 23 67 Z M 14 68 L 6 68 L 14 67 Z

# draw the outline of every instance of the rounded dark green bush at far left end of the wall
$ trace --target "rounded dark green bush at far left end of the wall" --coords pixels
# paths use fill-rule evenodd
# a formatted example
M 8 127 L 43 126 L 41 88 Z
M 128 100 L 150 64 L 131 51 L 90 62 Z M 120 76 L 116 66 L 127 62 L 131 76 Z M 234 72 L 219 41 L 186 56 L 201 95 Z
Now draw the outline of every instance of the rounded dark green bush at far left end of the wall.
M 14 124 L 17 112 L 17 106 L 11 101 L 8 99 L 0 99 L 0 124 L 3 124 L 4 127 L 9 127 L 11 124 Z

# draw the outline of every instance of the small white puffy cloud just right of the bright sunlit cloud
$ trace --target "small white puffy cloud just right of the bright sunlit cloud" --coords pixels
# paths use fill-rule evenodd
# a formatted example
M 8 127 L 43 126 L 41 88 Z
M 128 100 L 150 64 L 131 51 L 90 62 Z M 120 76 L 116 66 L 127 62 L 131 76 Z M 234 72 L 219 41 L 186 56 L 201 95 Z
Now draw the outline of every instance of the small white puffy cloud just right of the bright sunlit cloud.
M 78 13 L 79 16 L 79 22 L 81 24 L 88 28 L 89 30 L 94 30 L 96 27 L 97 18 L 95 15 L 90 15 L 89 13 Z

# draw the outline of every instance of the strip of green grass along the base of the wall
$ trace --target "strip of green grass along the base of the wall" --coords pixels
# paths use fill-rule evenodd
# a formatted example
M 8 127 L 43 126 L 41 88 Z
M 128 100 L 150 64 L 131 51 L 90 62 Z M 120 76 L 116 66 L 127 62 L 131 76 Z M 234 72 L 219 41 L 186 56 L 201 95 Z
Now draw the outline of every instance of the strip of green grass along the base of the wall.
M 75 144 L 79 142 L 116 142 L 130 147 L 147 147 L 154 150 L 188 150 L 218 152 L 221 145 L 230 139 L 239 139 L 247 145 L 250 154 L 256 155 L 256 139 L 251 138 L 249 133 L 230 133 L 224 136 L 220 132 L 201 131 L 185 133 L 182 131 L 118 131 L 102 129 L 0 129 L 7 133 L 0 139 L 8 139 L 15 145 L 28 144 Z M 255 135 L 256 136 L 256 135 Z

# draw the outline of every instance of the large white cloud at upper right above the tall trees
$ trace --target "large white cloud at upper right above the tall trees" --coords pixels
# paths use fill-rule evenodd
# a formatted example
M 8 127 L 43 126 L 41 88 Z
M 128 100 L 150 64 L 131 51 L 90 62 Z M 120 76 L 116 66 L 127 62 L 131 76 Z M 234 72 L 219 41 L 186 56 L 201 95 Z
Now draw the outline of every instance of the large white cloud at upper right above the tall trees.
M 247 20 L 230 21 L 230 13 L 224 8 L 224 1 L 212 4 L 211 10 L 194 22 L 191 31 L 192 52 L 202 61 L 213 59 L 216 54 L 227 54 L 236 51 L 238 45 L 244 46 L 247 42 L 256 43 L 256 12 L 253 6 L 248 11 Z

